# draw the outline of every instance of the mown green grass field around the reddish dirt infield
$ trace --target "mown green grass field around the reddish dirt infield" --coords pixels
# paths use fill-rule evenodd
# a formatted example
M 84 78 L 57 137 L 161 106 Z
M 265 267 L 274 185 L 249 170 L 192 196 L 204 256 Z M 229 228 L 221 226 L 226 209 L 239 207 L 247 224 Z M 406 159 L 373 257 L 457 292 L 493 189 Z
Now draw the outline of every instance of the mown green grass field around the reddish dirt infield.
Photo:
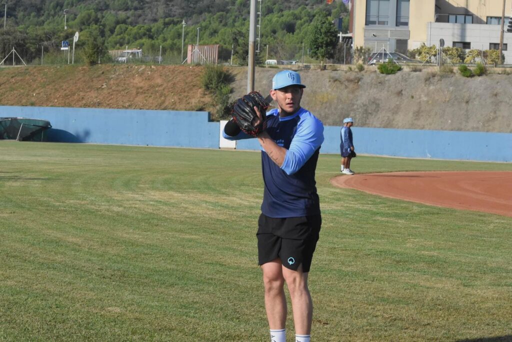
M 337 175 L 321 155 L 313 340 L 512 340 L 512 218 L 334 188 Z M 0 141 L 0 340 L 267 341 L 262 194 L 255 152 Z

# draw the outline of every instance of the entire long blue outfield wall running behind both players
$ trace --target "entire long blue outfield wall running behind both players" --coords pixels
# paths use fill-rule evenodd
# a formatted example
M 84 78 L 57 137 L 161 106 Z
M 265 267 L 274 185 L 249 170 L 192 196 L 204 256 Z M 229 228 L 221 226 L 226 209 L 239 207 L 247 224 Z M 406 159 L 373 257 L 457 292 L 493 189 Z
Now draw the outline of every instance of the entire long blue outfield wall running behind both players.
M 0 106 L 0 117 L 50 121 L 48 141 L 219 148 L 220 123 L 208 112 Z M 339 154 L 340 126 L 325 127 L 321 152 Z M 407 158 L 512 161 L 512 134 L 352 127 L 360 154 Z M 237 149 L 259 150 L 256 139 Z

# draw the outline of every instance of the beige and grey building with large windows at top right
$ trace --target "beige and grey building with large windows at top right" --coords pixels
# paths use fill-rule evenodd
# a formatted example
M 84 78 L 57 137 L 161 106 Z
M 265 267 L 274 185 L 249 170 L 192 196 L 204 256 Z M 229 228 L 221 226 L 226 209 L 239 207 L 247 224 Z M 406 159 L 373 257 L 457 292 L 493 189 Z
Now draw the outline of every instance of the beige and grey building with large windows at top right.
M 499 43 L 502 0 L 352 0 L 351 5 L 354 48 L 406 53 L 421 44 L 437 46 L 440 38 L 445 46 L 464 49 L 494 49 Z M 506 0 L 505 30 L 511 15 L 512 0 Z M 512 33 L 505 33 L 504 41 L 509 35 L 512 50 Z

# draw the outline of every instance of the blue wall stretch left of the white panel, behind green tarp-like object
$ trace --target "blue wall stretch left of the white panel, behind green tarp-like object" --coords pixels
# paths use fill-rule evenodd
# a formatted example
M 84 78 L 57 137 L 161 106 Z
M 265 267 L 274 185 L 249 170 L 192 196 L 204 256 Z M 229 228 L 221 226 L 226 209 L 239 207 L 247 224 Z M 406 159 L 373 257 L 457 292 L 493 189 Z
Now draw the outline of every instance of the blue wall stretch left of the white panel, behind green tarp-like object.
M 0 117 L 48 120 L 53 142 L 219 148 L 208 112 L 0 106 Z

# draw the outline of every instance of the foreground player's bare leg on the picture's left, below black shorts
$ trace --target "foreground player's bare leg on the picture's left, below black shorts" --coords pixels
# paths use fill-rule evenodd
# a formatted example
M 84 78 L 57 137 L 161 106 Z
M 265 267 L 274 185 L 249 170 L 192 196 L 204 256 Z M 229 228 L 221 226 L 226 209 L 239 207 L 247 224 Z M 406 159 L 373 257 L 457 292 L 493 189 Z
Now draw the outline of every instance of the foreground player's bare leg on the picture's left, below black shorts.
M 265 309 L 270 329 L 284 329 L 286 325 L 286 296 L 281 260 L 261 265 L 265 285 Z

